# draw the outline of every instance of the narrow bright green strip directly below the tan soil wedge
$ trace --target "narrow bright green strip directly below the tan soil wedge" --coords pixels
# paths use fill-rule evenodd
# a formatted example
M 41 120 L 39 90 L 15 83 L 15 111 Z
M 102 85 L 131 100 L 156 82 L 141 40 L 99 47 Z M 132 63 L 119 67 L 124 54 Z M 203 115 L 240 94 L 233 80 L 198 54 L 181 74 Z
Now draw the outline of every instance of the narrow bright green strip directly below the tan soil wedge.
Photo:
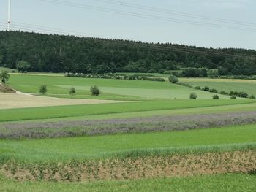
M 143 112 L 154 110 L 175 110 L 194 107 L 214 107 L 232 104 L 249 104 L 251 99 L 241 100 L 163 100 L 139 101 L 116 104 L 86 104 L 57 107 L 32 107 L 0 110 L 0 122 L 14 120 L 35 120 L 47 118 L 65 118 L 87 115 L 107 115 L 122 112 Z M 113 115 L 113 118 L 115 116 Z

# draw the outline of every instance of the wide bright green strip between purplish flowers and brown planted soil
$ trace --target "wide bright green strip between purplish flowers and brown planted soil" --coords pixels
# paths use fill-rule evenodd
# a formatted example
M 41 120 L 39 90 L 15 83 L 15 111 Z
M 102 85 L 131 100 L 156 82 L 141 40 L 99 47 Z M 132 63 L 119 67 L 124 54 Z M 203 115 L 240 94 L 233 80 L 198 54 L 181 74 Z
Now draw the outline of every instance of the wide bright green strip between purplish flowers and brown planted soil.
M 184 150 L 209 150 L 214 147 L 242 148 L 256 142 L 256 125 L 229 126 L 189 131 L 117 134 L 94 137 L 69 137 L 39 140 L 1 140 L 2 158 L 18 161 L 69 161 L 104 158 L 143 150 L 170 153 Z M 139 152 L 140 153 L 140 152 Z

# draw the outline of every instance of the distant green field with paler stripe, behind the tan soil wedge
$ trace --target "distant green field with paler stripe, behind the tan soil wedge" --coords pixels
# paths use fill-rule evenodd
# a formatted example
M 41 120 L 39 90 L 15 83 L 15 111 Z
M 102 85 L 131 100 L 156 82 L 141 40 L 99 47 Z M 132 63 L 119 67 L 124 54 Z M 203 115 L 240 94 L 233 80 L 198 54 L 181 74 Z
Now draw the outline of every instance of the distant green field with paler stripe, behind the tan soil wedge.
M 8 83 L 12 88 L 26 93 L 38 93 L 39 85 L 47 85 L 50 95 L 66 97 L 69 96 L 69 88 L 74 87 L 80 97 L 84 96 L 87 99 L 95 99 L 89 92 L 91 85 L 99 86 L 102 91 L 99 99 L 189 99 L 192 92 L 197 93 L 197 99 L 212 99 L 214 95 L 169 82 L 72 78 L 45 74 L 11 74 Z M 220 99 L 229 97 L 220 96 Z

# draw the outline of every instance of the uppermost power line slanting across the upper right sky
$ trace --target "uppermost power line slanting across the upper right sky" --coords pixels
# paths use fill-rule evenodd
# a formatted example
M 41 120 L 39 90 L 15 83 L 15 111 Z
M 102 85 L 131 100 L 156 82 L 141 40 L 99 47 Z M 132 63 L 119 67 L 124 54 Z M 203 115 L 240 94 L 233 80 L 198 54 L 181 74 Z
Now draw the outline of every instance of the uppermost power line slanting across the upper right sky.
M 227 20 L 224 18 L 214 18 L 214 17 L 205 16 L 205 15 L 191 14 L 191 13 L 187 13 L 187 12 L 177 12 L 177 11 L 173 11 L 170 9 L 149 7 L 149 6 L 140 5 L 140 4 L 127 3 L 124 1 L 116 1 L 116 0 L 94 0 L 94 1 L 104 2 L 107 4 L 115 4 L 115 5 L 119 5 L 122 7 L 131 7 L 131 8 L 135 8 L 135 9 L 143 9 L 143 10 L 147 10 L 147 11 L 160 12 L 160 13 L 165 13 L 165 14 L 170 14 L 170 15 L 178 15 L 178 16 L 187 17 L 187 18 L 197 18 L 197 19 L 202 19 L 202 20 L 212 20 L 212 21 L 216 21 L 216 22 L 220 22 L 220 23 L 230 23 L 230 24 L 236 24 L 236 25 L 242 25 L 242 26 L 256 27 L 256 23 L 248 23 L 248 22 L 239 21 L 239 20 Z

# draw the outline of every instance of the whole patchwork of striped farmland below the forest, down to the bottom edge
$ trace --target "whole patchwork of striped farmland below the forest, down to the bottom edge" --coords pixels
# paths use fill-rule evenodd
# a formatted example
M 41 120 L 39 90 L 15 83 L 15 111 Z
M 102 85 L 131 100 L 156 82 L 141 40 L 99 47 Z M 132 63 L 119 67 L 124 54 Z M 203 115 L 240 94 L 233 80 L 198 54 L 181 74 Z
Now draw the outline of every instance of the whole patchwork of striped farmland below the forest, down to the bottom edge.
M 249 94 L 256 87 L 246 80 L 181 82 Z M 256 189 L 255 99 L 63 74 L 14 73 L 7 84 L 21 93 L 0 93 L 0 191 Z M 99 96 L 91 96 L 91 85 Z

